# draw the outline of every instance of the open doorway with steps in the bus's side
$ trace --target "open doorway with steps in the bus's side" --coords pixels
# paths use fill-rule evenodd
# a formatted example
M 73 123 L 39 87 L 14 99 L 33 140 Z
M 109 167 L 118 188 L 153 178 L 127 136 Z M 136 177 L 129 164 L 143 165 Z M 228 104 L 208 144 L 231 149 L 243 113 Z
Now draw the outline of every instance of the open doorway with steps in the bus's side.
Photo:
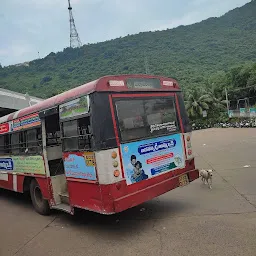
M 62 158 L 58 107 L 43 111 L 40 113 L 40 118 L 42 120 L 45 166 L 48 177 L 51 179 L 55 205 L 59 208 L 58 205 L 61 207 L 63 204 L 69 205 L 69 194 Z M 67 211 L 69 211 L 69 209 L 67 209 Z

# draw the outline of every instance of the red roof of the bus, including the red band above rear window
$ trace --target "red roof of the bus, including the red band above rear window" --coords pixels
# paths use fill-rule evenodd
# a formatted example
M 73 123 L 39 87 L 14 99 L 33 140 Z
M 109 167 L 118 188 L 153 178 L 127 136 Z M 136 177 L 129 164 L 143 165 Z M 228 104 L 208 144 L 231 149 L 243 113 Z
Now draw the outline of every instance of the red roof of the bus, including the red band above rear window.
M 161 88 L 153 89 L 129 89 L 125 85 L 127 78 L 144 78 L 144 79 L 159 79 L 161 83 Z M 114 82 L 113 85 L 110 85 L 110 81 Z M 122 84 L 123 82 L 123 84 Z M 118 84 L 119 83 L 119 84 Z M 76 99 L 82 95 L 91 94 L 93 92 L 132 92 L 132 91 L 179 91 L 180 88 L 175 79 L 161 77 L 161 76 L 152 76 L 152 75 L 114 75 L 114 76 L 104 76 L 92 82 L 80 85 L 71 90 L 58 94 L 54 97 L 46 99 L 40 103 L 37 103 L 33 106 L 21 109 L 17 112 L 8 114 L 0 118 L 0 124 L 13 119 L 23 117 L 32 113 L 41 112 L 46 109 L 56 107 L 60 104 L 63 104 L 67 101 Z

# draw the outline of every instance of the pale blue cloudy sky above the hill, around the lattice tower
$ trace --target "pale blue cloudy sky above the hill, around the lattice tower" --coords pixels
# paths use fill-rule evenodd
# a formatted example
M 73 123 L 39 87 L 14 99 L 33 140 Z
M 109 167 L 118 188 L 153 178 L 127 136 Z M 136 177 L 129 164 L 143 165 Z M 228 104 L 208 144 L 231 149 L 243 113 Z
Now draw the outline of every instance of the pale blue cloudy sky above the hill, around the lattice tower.
M 68 0 L 0 0 L 2 66 L 69 45 Z M 101 42 L 219 17 L 250 0 L 71 0 L 81 41 Z

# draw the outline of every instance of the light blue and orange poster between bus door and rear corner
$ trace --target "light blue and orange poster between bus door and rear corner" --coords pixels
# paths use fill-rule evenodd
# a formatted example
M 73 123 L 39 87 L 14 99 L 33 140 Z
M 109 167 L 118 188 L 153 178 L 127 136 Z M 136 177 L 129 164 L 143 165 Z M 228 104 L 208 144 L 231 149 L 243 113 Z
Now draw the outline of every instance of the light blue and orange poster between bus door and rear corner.
M 96 180 L 94 153 L 64 153 L 64 168 L 68 178 Z

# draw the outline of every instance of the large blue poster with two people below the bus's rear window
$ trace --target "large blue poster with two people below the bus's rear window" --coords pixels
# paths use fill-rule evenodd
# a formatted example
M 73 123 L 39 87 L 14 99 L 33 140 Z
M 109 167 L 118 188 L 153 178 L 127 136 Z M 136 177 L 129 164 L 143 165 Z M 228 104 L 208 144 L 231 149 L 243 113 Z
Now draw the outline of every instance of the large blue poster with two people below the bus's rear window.
M 180 134 L 122 144 L 121 151 L 128 185 L 185 166 Z

